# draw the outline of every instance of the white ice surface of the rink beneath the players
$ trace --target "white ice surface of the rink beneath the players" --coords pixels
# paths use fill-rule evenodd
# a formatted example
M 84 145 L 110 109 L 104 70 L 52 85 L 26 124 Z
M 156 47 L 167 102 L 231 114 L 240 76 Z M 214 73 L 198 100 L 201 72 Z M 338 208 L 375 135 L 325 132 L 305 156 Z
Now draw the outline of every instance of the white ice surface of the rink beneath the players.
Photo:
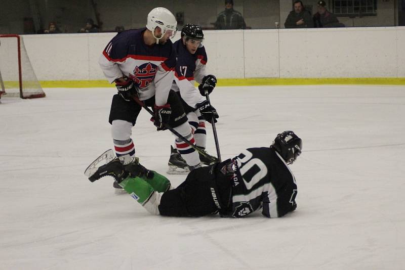
M 303 139 L 298 207 L 278 219 L 152 216 L 112 178 L 90 183 L 114 88 L 44 90 L 0 104 L 0 269 L 405 269 L 403 85 L 215 89 L 223 159 L 280 131 Z M 133 139 L 166 175 L 169 131 L 143 111 Z

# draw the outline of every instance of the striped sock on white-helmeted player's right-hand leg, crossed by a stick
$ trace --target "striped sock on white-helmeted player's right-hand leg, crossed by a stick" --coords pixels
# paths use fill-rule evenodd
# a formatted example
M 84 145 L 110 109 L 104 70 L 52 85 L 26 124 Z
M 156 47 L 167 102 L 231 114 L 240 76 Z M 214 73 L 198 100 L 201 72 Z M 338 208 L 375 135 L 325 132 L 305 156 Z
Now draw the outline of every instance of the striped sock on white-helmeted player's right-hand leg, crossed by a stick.
M 195 144 L 194 137 L 191 132 L 191 127 L 188 122 L 183 123 L 178 127 L 175 127 L 174 129 L 179 132 L 184 138 L 190 141 L 191 144 Z M 179 151 L 181 157 L 186 161 L 187 165 L 196 166 L 200 163 L 198 153 L 194 150 L 194 148 L 184 143 L 179 138 L 176 138 L 176 148 Z

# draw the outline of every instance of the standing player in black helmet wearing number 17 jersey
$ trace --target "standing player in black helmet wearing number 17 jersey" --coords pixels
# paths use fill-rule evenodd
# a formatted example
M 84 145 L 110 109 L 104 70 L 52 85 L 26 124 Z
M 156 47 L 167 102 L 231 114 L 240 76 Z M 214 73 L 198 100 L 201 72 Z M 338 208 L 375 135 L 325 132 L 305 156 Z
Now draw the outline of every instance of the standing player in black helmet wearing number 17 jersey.
M 205 91 L 210 94 L 217 79 L 208 74 L 206 64 L 208 61 L 206 50 L 203 46 L 204 33 L 199 25 L 186 24 L 181 30 L 181 38 L 174 42 L 177 55 L 175 80 L 172 89 L 180 95 L 188 122 L 194 133 L 195 145 L 205 150 L 207 142 L 206 120 L 211 122 L 218 118 L 216 109 L 208 103 Z M 198 89 L 194 82 L 199 83 Z M 216 121 L 216 120 L 215 120 Z M 171 148 L 169 159 L 169 174 L 188 173 L 188 166 L 181 154 L 187 150 Z M 180 153 L 179 153 L 180 152 Z M 216 157 L 210 158 L 199 155 L 202 164 L 209 165 Z

